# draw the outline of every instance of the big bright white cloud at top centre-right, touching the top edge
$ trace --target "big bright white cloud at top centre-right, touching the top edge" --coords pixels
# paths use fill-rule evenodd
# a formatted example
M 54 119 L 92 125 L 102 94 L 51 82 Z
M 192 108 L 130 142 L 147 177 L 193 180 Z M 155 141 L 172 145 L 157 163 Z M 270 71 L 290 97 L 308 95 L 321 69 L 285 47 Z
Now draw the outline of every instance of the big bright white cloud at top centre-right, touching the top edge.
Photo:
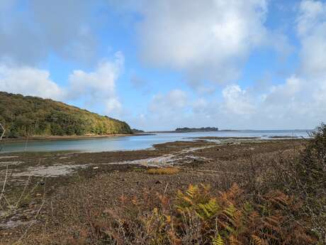
M 145 1 L 140 55 L 186 73 L 196 88 L 240 74 L 250 51 L 266 40 L 265 0 Z

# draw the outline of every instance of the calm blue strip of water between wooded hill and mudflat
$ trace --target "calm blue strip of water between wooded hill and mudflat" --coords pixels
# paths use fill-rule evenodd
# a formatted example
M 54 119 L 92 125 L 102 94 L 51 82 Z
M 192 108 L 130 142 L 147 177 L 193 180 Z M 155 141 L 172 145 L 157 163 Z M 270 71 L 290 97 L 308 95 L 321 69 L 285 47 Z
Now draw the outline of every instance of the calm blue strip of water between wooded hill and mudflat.
M 221 136 L 221 137 L 259 137 L 268 139 L 269 136 L 308 137 L 308 131 L 277 130 L 277 131 L 218 131 L 196 133 L 159 133 L 147 136 L 123 136 L 110 138 L 90 138 L 79 140 L 31 141 L 25 143 L 4 143 L 1 153 L 20 151 L 128 151 L 151 148 L 156 143 L 172 141 L 191 141 L 191 137 Z

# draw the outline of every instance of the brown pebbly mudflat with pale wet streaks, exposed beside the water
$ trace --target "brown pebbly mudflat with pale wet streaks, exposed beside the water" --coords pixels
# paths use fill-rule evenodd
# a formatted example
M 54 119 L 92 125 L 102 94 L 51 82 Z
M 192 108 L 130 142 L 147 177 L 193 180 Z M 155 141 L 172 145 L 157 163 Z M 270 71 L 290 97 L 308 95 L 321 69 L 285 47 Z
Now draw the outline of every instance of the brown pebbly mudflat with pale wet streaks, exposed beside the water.
M 142 151 L 102 153 L 10 153 L 0 155 L 0 180 L 12 209 L 1 211 L 0 244 L 64 244 L 87 229 L 90 215 L 105 214 L 120 197 L 144 192 L 173 194 L 189 184 L 225 190 L 245 183 L 250 160 L 266 163 L 291 155 L 301 139 L 262 141 L 176 141 Z M 179 168 L 172 175 L 150 175 L 149 168 Z M 259 164 L 255 165 L 257 173 Z

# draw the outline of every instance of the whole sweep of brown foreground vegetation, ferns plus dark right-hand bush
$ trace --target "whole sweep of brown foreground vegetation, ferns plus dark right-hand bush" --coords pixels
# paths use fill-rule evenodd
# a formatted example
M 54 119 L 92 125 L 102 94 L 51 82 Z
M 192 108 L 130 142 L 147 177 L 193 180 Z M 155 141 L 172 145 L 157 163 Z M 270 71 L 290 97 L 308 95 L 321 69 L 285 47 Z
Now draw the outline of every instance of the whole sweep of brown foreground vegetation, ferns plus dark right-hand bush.
M 322 125 L 303 151 L 248 155 L 242 177 L 225 179 L 229 190 L 122 197 L 69 244 L 325 244 L 325 163 Z

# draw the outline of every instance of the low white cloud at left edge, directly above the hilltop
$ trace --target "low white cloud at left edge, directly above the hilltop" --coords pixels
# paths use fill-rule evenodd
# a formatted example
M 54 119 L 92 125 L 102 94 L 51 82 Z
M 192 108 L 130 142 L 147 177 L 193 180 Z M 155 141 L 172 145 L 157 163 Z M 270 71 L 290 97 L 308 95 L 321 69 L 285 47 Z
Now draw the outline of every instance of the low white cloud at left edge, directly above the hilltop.
M 27 66 L 0 65 L 0 90 L 52 99 L 63 99 L 65 94 L 47 70 Z

